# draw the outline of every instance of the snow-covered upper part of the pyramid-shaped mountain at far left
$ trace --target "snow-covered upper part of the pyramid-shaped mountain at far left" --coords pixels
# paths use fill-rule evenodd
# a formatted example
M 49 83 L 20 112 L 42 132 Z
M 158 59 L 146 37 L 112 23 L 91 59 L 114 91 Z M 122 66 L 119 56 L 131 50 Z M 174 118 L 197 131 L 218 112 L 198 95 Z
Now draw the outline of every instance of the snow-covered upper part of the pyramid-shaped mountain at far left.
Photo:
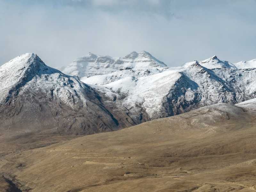
M 60 76 L 63 76 L 61 79 Z M 65 78 L 64 78 L 65 77 Z M 34 53 L 22 54 L 0 67 L 0 102 L 7 101 L 12 94 L 17 94 L 18 90 L 25 85 L 32 84 L 31 82 L 43 83 L 38 87 L 46 87 L 49 82 L 52 84 L 60 83 L 68 84 L 68 77 L 59 70 L 48 67 L 44 62 Z M 40 79 L 40 80 L 39 80 Z M 72 81 L 75 78 L 72 77 Z M 48 83 L 45 83 L 47 82 Z M 74 85 L 72 85 L 74 87 Z

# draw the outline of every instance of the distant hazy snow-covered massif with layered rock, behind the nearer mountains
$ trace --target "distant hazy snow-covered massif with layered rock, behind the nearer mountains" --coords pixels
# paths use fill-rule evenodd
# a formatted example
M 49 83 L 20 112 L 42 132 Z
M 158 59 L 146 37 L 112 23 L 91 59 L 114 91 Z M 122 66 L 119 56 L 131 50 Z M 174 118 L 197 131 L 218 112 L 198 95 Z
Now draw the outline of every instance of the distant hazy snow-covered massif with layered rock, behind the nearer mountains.
M 123 58 L 113 58 L 89 53 L 74 60 L 62 72 L 70 76 L 83 78 L 106 75 L 125 68 L 150 70 L 151 68 L 156 69 L 161 67 L 167 66 L 164 62 L 156 59 L 146 51 L 140 53 L 131 52 Z

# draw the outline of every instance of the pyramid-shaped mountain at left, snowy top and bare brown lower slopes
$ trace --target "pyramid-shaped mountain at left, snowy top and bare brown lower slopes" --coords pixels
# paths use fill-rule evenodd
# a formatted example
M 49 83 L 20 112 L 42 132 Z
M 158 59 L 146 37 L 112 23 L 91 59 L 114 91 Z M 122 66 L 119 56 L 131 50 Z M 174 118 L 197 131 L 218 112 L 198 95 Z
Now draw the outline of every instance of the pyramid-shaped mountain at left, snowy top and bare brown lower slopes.
M 46 66 L 33 53 L 0 67 L 0 87 L 2 130 L 57 129 L 62 134 L 91 134 L 135 124 L 115 93 L 97 92 Z M 120 111 L 116 113 L 113 106 Z

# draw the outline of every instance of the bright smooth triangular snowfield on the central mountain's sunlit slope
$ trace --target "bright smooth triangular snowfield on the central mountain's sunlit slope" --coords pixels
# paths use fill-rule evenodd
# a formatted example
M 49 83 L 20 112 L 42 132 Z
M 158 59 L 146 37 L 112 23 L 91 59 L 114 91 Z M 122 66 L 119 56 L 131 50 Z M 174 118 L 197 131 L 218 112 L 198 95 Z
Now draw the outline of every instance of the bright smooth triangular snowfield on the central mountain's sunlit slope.
M 180 76 L 178 72 L 165 71 L 147 77 L 125 77 L 104 86 L 123 97 L 123 105 L 126 108 L 142 106 L 148 116 L 153 118 L 161 109 L 163 98 Z

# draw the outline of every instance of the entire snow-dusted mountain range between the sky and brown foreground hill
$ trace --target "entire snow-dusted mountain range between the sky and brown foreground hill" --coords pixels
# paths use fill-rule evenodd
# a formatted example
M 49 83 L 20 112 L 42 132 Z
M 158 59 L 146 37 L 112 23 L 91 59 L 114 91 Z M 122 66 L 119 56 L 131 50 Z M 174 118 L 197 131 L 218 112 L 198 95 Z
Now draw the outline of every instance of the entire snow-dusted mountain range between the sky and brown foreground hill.
M 216 56 L 167 67 L 143 51 L 123 58 L 89 53 L 60 72 L 26 53 L 0 67 L 0 130 L 85 135 L 236 104 L 255 98 L 255 67 L 256 60 L 232 64 Z

